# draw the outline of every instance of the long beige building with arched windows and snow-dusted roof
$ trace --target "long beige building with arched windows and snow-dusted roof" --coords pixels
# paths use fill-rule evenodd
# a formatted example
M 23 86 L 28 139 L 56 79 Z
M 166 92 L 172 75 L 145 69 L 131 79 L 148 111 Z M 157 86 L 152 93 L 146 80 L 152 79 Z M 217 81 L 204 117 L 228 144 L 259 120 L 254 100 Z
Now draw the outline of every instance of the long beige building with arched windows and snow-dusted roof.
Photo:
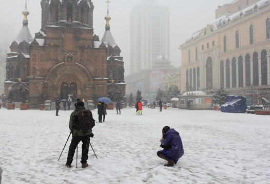
M 181 89 L 270 98 L 270 1 L 234 1 L 216 16 L 180 45 Z

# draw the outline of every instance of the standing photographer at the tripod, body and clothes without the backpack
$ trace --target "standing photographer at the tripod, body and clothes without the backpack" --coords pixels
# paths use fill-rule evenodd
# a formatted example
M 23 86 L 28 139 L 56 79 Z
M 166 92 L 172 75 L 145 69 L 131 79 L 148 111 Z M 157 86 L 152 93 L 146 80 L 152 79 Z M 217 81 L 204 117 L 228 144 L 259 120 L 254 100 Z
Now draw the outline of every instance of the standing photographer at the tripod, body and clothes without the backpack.
M 70 120 L 69 120 L 69 129 L 72 133 L 72 139 L 68 150 L 68 156 L 67 156 L 67 162 L 66 166 L 68 168 L 71 167 L 71 163 L 73 161 L 73 156 L 75 153 L 75 149 L 78 146 L 78 144 L 82 141 L 82 168 L 85 168 L 88 166 L 87 159 L 88 159 L 88 151 L 89 151 L 89 145 L 90 145 L 90 137 L 93 137 L 94 134 L 92 133 L 92 130 L 89 129 L 87 132 L 84 132 L 81 129 L 78 129 L 78 112 L 79 110 L 85 109 L 84 102 L 79 101 L 76 104 L 76 109 L 70 114 Z

